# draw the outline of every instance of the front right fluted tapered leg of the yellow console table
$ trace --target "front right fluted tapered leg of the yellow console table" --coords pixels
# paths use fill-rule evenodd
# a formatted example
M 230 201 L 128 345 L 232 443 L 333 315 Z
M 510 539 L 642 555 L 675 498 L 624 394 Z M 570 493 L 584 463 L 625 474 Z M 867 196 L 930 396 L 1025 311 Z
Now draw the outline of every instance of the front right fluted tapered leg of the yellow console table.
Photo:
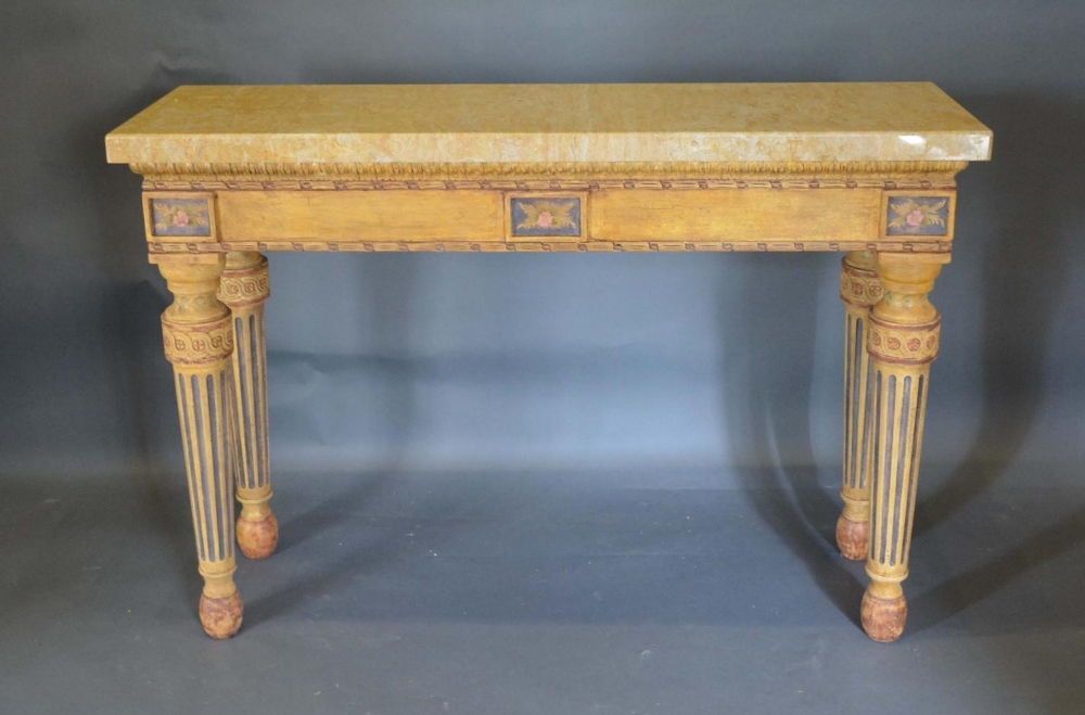
M 879 255 L 884 295 L 867 331 L 873 418 L 870 549 L 863 628 L 896 640 L 908 614 L 901 584 L 908 577 L 916 485 L 923 444 L 928 378 L 939 354 L 941 318 L 928 299 L 942 266 L 918 256 Z

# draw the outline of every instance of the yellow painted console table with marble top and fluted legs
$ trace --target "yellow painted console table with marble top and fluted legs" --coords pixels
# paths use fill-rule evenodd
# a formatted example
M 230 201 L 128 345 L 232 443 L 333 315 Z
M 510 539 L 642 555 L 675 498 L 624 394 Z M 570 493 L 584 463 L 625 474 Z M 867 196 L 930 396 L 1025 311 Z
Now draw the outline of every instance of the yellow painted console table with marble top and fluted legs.
M 992 132 L 927 82 L 179 87 L 111 132 L 143 177 L 200 618 L 276 549 L 268 251 L 845 252 L 843 556 L 898 638 L 955 177 Z M 510 258 L 512 259 L 512 258 Z M 241 502 L 235 521 L 234 498 Z

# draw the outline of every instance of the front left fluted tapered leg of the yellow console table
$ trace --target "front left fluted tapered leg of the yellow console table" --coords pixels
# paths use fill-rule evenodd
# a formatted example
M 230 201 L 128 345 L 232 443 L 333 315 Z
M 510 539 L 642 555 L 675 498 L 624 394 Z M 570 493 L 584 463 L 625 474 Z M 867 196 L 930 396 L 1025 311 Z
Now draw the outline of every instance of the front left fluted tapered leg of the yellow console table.
M 220 255 L 152 256 L 174 294 L 162 315 L 166 358 L 174 365 L 189 501 L 204 578 L 200 621 L 212 638 L 241 627 L 233 584 L 233 474 L 230 434 L 233 375 L 230 311 L 215 297 Z

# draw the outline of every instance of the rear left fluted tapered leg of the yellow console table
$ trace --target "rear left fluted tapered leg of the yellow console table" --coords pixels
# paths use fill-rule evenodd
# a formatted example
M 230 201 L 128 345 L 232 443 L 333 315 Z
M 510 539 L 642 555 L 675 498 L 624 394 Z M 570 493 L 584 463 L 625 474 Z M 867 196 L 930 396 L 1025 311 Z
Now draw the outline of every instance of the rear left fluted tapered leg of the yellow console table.
M 271 513 L 268 457 L 267 348 L 264 303 L 271 294 L 268 259 L 259 253 L 226 254 L 219 299 L 232 312 L 234 380 L 234 470 L 241 518 L 238 546 L 250 559 L 266 559 L 279 544 L 279 522 Z

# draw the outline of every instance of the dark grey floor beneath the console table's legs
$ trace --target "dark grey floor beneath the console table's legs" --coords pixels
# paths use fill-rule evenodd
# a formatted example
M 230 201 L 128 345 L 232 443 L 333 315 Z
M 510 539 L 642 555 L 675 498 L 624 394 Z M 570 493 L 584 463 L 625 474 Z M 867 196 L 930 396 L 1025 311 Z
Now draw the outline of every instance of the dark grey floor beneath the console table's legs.
M 178 477 L 5 480 L 0 713 L 1085 712 L 1085 489 L 923 493 L 882 646 L 813 474 L 651 475 L 279 474 L 226 642 Z

